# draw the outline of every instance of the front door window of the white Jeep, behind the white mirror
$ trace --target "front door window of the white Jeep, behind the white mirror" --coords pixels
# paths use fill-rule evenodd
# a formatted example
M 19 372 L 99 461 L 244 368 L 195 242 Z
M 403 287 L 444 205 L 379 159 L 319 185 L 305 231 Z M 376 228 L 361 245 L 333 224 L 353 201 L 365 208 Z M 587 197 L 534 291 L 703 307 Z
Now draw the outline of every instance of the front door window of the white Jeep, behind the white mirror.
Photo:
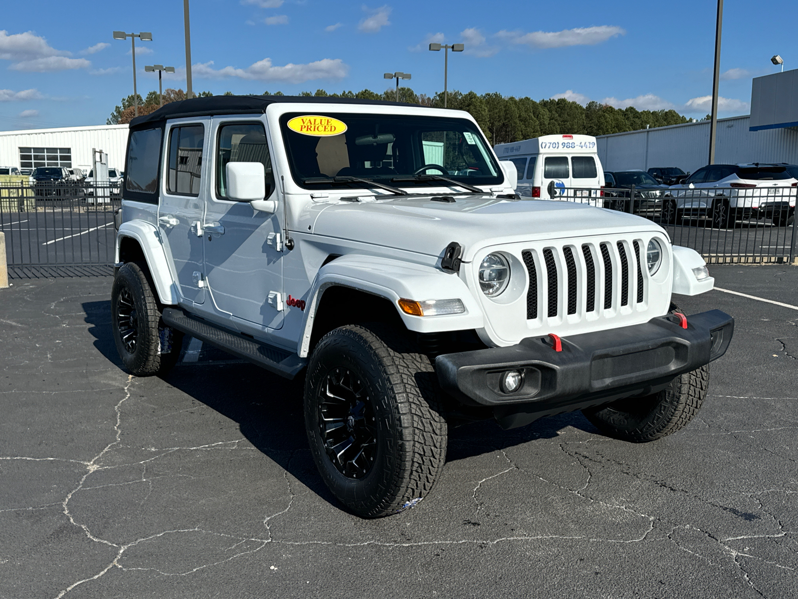
M 237 123 L 219 127 L 216 148 L 216 196 L 227 197 L 228 162 L 260 162 L 266 171 L 266 196 L 275 188 L 275 176 L 271 170 L 266 129 L 261 123 Z

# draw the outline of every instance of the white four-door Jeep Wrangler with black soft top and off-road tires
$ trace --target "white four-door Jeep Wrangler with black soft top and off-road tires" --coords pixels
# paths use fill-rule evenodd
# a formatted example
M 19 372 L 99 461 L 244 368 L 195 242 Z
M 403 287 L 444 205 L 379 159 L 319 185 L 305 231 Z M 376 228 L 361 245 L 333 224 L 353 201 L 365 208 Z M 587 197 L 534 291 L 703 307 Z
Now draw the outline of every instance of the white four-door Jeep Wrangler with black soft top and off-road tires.
M 631 442 L 685 426 L 733 334 L 671 303 L 713 288 L 704 260 L 650 220 L 515 186 L 456 110 L 168 104 L 130 126 L 117 349 L 156 375 L 191 335 L 302 376 L 318 470 L 363 517 L 429 494 L 448 426 L 575 410 Z

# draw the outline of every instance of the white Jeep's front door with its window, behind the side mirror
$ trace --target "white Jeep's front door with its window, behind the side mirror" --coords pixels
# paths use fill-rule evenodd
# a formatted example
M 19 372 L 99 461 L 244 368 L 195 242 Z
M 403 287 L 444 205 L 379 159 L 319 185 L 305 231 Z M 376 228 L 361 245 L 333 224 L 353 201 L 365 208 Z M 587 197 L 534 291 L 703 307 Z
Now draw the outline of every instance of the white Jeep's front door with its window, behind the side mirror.
M 278 210 L 259 212 L 227 199 L 228 162 L 261 162 L 267 198 L 277 199 L 263 121 L 214 118 L 213 184 L 206 195 L 205 276 L 216 309 L 270 328 L 282 327 L 282 230 Z

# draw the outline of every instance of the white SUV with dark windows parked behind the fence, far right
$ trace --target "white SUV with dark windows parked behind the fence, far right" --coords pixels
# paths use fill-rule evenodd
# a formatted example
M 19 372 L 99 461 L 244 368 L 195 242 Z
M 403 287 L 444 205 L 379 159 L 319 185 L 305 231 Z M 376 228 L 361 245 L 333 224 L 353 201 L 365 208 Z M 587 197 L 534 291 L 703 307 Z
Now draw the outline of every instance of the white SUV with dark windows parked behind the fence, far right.
M 662 208 L 666 222 L 711 216 L 713 227 L 727 228 L 737 220 L 769 218 L 784 227 L 795 217 L 798 179 L 786 165 L 707 165 L 670 189 L 673 199 Z

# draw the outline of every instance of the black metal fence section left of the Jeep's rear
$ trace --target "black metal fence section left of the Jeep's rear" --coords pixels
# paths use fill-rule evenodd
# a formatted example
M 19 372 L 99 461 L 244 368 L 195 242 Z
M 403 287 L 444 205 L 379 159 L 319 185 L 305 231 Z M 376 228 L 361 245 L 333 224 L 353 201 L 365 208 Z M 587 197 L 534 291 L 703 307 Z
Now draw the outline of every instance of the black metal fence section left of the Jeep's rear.
M 120 204 L 113 183 L 0 183 L 0 231 L 6 234 L 10 270 L 76 272 L 113 264 L 113 215 Z

